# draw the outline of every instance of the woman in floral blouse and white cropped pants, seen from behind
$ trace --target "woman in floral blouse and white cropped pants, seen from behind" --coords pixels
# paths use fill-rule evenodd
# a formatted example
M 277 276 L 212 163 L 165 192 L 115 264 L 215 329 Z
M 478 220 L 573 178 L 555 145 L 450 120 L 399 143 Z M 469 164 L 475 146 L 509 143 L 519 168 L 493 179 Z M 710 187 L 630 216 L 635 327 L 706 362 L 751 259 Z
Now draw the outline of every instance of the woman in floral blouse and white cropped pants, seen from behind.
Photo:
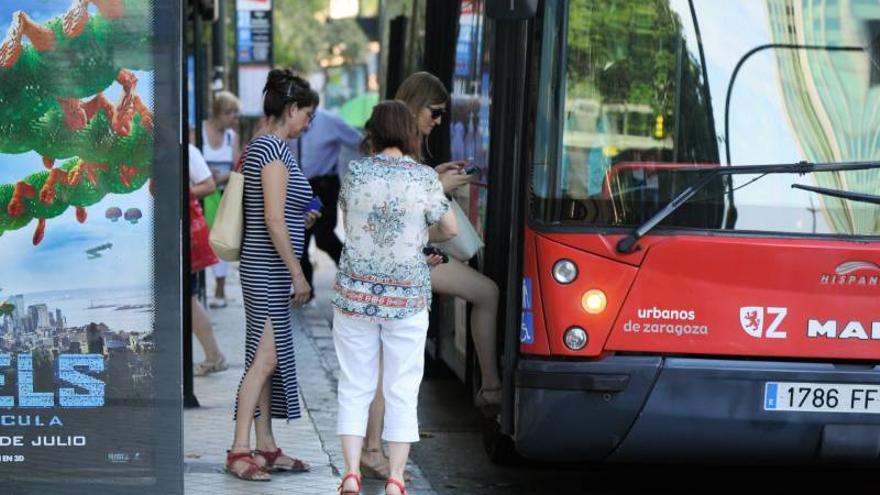
M 456 234 L 455 216 L 437 173 L 410 155 L 419 146 L 403 103 L 382 102 L 366 124 L 364 148 L 339 194 L 345 247 L 333 297 L 339 358 L 338 433 L 345 458 L 342 493 L 358 493 L 361 447 L 383 355 L 386 400 L 382 438 L 389 442 L 386 493 L 405 493 L 411 442 L 419 439 L 416 405 L 424 367 L 431 273 L 422 250 Z

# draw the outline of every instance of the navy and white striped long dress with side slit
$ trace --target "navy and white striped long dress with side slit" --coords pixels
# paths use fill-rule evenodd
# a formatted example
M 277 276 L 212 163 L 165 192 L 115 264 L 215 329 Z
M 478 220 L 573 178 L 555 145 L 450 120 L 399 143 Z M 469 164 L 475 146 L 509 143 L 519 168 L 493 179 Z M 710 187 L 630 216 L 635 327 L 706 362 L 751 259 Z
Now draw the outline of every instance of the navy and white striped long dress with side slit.
M 278 366 L 272 375 L 272 417 L 291 420 L 300 417 L 293 350 L 293 325 L 300 325 L 300 320 L 291 310 L 293 282 L 290 272 L 275 250 L 266 228 L 261 182 L 263 167 L 275 160 L 287 166 L 284 218 L 297 258 L 302 256 L 303 251 L 304 210 L 312 199 L 309 181 L 284 141 L 267 134 L 248 145 L 242 164 L 245 226 L 239 265 L 247 320 L 245 373 L 254 361 L 265 322 L 270 319 L 278 357 Z

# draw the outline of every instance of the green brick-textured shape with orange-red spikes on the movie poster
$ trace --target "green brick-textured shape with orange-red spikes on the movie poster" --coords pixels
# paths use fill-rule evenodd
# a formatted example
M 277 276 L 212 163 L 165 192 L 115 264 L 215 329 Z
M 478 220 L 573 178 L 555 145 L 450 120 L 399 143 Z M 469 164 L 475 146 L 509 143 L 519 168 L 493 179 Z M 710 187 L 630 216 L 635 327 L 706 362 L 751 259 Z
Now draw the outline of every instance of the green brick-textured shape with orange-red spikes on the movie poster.
M 152 69 L 150 16 L 139 0 L 76 0 L 43 24 L 14 14 L 0 44 L 0 153 L 35 151 L 47 170 L 0 185 L 0 234 L 36 219 L 39 244 L 46 219 L 72 206 L 84 222 L 85 207 L 150 178 L 153 116 L 131 72 Z M 103 95 L 114 82 L 116 104 Z

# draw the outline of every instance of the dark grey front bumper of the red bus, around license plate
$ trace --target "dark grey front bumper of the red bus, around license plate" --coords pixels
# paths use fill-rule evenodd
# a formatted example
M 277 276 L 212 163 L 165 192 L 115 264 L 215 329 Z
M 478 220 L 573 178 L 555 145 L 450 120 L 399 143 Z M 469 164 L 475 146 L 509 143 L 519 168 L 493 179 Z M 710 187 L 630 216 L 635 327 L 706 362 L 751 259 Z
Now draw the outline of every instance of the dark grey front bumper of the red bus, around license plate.
M 768 411 L 767 382 L 880 385 L 880 366 L 521 359 L 514 440 L 523 456 L 554 461 L 880 461 L 880 414 Z

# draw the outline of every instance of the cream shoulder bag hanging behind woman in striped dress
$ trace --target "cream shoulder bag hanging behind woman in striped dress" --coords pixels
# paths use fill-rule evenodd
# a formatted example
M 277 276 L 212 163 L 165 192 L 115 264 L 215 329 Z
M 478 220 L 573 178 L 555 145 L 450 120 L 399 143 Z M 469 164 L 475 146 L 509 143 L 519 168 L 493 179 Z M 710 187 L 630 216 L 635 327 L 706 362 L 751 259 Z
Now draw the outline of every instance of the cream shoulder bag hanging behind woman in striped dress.
M 241 238 L 244 234 L 243 201 L 244 175 L 237 171 L 230 172 L 229 182 L 220 198 L 208 238 L 214 253 L 225 261 L 237 261 L 241 255 Z

